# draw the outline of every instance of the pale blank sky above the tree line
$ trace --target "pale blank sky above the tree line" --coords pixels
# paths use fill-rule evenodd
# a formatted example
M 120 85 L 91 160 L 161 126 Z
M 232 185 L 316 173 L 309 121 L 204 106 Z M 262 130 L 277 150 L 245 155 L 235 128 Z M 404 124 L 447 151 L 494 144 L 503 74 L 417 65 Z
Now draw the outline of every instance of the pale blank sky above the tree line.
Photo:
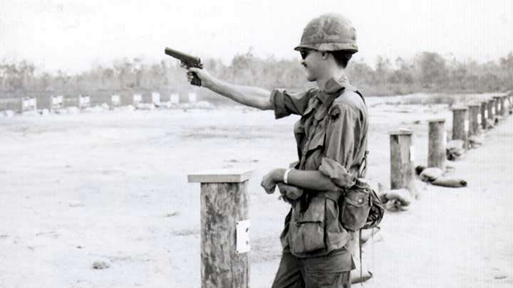
M 250 47 L 299 58 L 304 26 L 329 11 L 351 18 L 356 58 L 370 64 L 420 51 L 484 62 L 513 50 L 512 0 L 0 0 L 0 60 L 75 73 L 116 58 L 157 61 L 165 46 L 225 63 Z

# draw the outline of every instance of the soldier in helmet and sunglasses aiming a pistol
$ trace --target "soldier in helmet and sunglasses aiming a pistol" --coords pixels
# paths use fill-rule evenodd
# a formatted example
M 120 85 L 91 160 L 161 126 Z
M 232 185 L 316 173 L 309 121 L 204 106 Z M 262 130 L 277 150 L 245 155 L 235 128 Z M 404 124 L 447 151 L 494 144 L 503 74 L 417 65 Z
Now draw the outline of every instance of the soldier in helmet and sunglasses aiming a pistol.
M 274 110 L 276 119 L 301 115 L 294 125 L 296 166 L 274 169 L 261 181 L 266 193 L 281 187 L 291 203 L 272 287 L 351 287 L 355 235 L 338 220 L 338 198 L 355 183 L 366 155 L 366 105 L 346 78 L 348 61 L 358 51 L 356 30 L 348 18 L 324 14 L 306 25 L 294 50 L 301 53 L 306 79 L 316 81 L 317 88 L 267 91 L 232 85 L 198 68 L 187 75 L 192 80 L 196 73 L 202 86 L 243 105 Z M 286 189 L 291 186 L 296 189 Z

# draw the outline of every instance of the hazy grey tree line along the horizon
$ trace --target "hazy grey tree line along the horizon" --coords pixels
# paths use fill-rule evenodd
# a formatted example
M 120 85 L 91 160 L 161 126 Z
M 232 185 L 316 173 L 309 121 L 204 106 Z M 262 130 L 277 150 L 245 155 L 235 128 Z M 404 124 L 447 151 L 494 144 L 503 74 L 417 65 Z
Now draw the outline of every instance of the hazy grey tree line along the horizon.
M 267 89 L 287 87 L 301 90 L 311 87 L 304 78 L 298 59 L 259 58 L 250 49 L 235 55 L 229 65 L 219 59 L 204 60 L 209 72 L 228 82 L 255 85 Z M 401 95 L 410 92 L 496 92 L 513 88 L 513 53 L 478 63 L 476 60 L 445 58 L 438 53 L 422 52 L 413 58 L 391 60 L 380 56 L 374 67 L 363 60 L 351 60 L 348 77 L 366 95 Z M 26 60 L 0 63 L 0 95 L 26 91 L 73 93 L 81 91 L 172 91 L 190 90 L 185 70 L 172 58 L 160 63 L 145 63 L 140 58 L 115 60 L 111 65 L 68 75 L 38 71 Z M 208 93 L 199 90 L 200 93 Z

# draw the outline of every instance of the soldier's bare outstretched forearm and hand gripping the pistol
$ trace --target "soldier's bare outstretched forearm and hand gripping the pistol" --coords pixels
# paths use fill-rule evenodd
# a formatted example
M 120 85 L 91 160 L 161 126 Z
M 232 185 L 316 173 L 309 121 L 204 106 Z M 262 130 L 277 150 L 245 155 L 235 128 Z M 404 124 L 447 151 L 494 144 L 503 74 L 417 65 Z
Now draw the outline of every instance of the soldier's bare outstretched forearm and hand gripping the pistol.
M 269 100 L 271 92 L 251 86 L 233 85 L 223 80 L 212 77 L 206 70 L 189 68 L 187 75 L 192 80 L 192 73 L 196 73 L 202 81 L 202 86 L 219 95 L 227 97 L 242 105 L 258 108 L 260 110 L 272 110 L 273 105 Z

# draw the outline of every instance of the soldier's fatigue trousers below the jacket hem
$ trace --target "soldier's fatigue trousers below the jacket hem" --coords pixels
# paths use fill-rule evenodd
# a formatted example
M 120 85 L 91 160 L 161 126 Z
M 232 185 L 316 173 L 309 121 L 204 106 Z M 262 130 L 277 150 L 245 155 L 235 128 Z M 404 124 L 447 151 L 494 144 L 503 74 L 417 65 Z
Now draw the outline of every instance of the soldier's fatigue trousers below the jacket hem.
M 353 260 L 348 250 L 321 257 L 299 258 L 284 250 L 272 288 L 349 288 Z

